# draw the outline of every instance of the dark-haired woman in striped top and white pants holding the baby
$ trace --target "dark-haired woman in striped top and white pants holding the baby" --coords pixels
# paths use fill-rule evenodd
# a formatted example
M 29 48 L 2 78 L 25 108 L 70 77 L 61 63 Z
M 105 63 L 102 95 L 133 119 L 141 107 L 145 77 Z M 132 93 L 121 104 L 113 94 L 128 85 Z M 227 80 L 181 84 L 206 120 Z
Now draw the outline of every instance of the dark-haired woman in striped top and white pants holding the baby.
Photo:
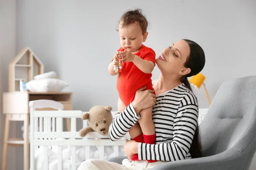
M 128 159 L 124 159 L 122 165 L 89 159 L 81 164 L 79 170 L 150 169 L 166 161 L 201 156 L 198 100 L 187 78 L 204 68 L 204 51 L 191 40 L 180 40 L 165 48 L 156 64 L 161 72 L 159 79 L 153 82 L 156 96 L 151 90 L 138 90 L 134 101 L 122 114 L 116 114 L 109 128 L 111 140 L 121 139 L 131 127 L 140 123 L 140 111 L 153 106 L 156 144 L 127 140 L 124 151 Z M 129 160 L 134 154 L 138 154 L 140 161 Z M 149 163 L 146 160 L 157 161 Z

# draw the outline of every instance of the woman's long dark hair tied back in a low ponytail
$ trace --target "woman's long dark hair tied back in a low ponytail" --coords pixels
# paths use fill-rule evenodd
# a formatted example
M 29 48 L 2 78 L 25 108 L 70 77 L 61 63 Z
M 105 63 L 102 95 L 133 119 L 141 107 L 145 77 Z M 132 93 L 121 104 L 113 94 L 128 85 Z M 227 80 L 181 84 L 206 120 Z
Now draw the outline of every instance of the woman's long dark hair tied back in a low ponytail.
M 195 76 L 203 70 L 205 64 L 205 55 L 204 50 L 196 42 L 187 39 L 183 40 L 188 43 L 190 48 L 189 57 L 187 58 L 184 66 L 186 68 L 190 68 L 191 72 L 181 77 L 180 81 L 184 83 L 184 85 L 189 88 L 190 91 L 192 91 L 189 80 L 187 78 Z M 199 158 L 202 155 L 201 136 L 199 133 L 198 125 L 195 128 L 195 135 L 189 153 L 191 154 L 192 158 Z

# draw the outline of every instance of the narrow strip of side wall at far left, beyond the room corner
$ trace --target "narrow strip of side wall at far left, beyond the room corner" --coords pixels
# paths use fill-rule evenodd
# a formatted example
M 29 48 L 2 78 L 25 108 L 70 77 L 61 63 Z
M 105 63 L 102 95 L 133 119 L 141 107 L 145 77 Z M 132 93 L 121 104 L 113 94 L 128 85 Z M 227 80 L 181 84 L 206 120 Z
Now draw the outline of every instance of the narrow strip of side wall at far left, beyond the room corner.
M 3 115 L 2 93 L 8 91 L 8 64 L 16 52 L 16 0 L 0 0 L 0 167 L 2 167 L 5 115 Z M 15 123 L 10 124 L 10 137 L 15 137 Z M 16 170 L 15 148 L 9 147 L 7 169 Z

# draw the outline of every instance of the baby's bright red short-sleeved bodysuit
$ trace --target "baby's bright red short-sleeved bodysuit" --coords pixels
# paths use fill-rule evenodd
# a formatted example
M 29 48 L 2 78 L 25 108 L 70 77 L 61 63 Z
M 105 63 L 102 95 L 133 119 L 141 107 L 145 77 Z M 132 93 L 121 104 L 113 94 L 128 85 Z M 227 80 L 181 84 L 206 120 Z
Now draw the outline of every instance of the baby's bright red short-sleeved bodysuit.
M 122 47 L 118 51 L 125 51 Z M 139 56 L 142 59 L 152 61 L 155 65 L 156 54 L 145 45 L 141 45 L 140 51 L 134 55 Z M 137 68 L 133 62 L 122 63 L 122 72 L 120 77 L 117 77 L 116 88 L 119 92 L 119 97 L 122 102 L 128 106 L 133 100 L 137 90 L 147 86 L 147 89 L 154 90 L 152 87 L 152 74 L 146 74 Z

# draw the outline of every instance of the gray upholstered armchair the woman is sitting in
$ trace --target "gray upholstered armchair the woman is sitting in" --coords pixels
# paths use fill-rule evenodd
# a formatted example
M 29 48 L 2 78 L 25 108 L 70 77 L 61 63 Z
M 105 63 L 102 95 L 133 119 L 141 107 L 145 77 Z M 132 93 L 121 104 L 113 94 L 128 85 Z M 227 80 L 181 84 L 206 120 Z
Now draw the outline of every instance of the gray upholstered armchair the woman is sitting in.
M 256 151 L 256 76 L 224 82 L 199 128 L 201 158 L 166 162 L 152 170 L 249 170 Z M 125 158 L 108 161 L 122 164 Z

